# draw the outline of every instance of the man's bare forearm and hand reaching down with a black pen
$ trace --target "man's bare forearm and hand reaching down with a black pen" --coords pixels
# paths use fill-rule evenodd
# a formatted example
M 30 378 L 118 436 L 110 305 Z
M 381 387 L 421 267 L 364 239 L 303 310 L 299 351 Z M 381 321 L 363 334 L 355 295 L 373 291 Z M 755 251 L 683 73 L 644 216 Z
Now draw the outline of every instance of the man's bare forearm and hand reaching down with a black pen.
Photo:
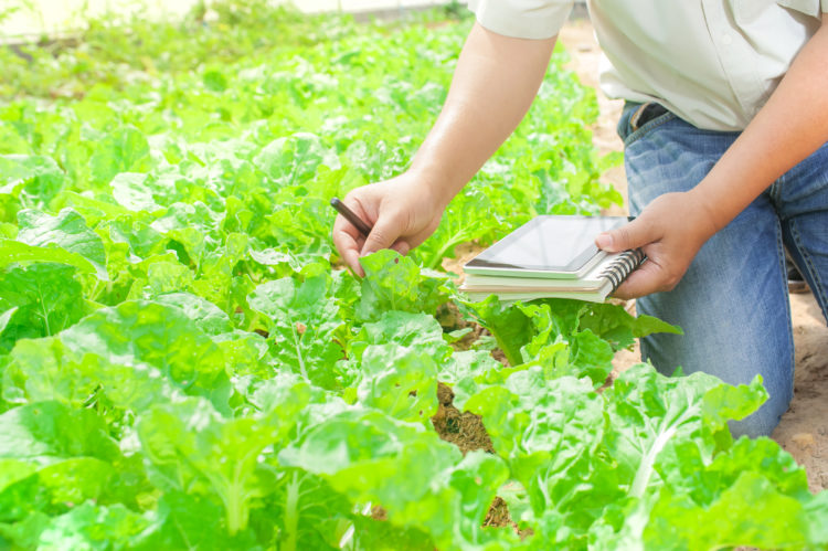
M 555 39 L 503 36 L 475 24 L 434 127 L 403 174 L 358 188 L 344 198 L 373 225 L 363 240 L 342 216 L 333 243 L 362 275 L 359 257 L 385 247 L 405 254 L 439 224 L 448 202 L 495 153 L 529 110 Z

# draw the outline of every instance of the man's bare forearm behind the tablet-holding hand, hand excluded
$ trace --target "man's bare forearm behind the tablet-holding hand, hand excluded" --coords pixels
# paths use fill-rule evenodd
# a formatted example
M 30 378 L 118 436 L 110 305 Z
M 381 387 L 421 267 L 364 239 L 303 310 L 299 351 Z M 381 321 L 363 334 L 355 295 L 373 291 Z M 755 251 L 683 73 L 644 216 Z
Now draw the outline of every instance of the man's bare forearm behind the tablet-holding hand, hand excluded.
M 790 168 L 828 141 L 828 15 L 776 91 L 691 192 L 721 229 Z

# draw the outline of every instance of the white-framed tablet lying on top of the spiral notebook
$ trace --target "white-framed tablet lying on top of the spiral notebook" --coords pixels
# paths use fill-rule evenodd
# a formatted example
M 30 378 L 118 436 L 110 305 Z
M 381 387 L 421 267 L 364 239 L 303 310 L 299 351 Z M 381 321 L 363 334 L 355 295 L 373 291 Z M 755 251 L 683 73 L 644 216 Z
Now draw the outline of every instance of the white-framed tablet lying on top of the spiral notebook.
M 464 266 L 469 274 L 576 278 L 606 253 L 595 237 L 626 216 L 541 215 L 495 243 Z

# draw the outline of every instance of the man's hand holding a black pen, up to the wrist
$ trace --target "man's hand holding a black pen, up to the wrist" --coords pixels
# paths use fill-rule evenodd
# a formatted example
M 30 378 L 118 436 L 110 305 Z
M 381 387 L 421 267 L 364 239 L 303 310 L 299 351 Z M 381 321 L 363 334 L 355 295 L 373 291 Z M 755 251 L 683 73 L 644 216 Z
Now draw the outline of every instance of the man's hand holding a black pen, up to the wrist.
M 344 263 L 364 276 L 360 256 L 393 248 L 400 254 L 423 243 L 439 224 L 446 205 L 420 177 L 405 172 L 391 180 L 358 188 L 342 201 L 359 218 L 373 225 L 368 239 L 343 216 L 333 223 L 333 244 Z

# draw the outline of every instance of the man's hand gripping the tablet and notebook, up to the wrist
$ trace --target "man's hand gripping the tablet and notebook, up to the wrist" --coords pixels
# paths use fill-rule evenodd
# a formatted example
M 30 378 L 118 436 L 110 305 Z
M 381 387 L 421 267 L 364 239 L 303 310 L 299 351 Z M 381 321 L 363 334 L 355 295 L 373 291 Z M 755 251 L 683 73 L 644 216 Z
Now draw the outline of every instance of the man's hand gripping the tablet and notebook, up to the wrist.
M 715 232 L 708 208 L 694 193 L 666 193 L 633 222 L 598 235 L 595 244 L 609 253 L 644 250 L 647 261 L 614 294 L 618 298 L 637 298 L 676 287 Z

